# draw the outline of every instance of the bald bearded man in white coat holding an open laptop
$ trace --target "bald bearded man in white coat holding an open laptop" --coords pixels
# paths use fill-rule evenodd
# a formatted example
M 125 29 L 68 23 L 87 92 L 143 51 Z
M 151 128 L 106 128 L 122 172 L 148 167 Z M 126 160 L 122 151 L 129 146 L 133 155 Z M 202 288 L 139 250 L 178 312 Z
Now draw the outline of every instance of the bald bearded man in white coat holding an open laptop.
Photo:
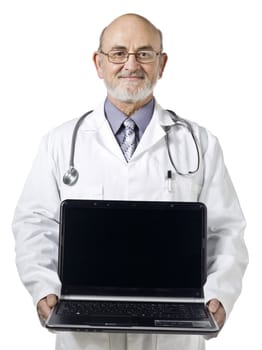
M 74 185 L 65 184 L 63 176 L 76 120 L 42 140 L 13 221 L 18 271 L 41 319 L 60 293 L 59 205 L 66 198 L 204 202 L 208 208 L 205 297 L 220 327 L 241 292 L 248 261 L 245 220 L 217 139 L 190 123 L 194 143 L 189 130 L 174 126 L 171 114 L 153 96 L 167 62 L 162 50 L 161 32 L 135 14 L 118 17 L 102 32 L 94 63 L 107 98 L 79 127 L 74 155 L 79 178 Z M 123 125 L 131 119 L 134 131 Z M 204 348 L 202 336 L 189 335 L 65 332 L 56 340 L 57 350 Z

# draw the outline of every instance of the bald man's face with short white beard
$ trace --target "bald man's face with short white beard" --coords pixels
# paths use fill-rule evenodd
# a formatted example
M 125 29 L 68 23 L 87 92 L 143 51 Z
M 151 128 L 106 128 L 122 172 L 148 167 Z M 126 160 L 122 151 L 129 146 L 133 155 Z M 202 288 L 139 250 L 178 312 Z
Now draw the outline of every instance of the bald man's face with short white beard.
M 119 19 L 105 31 L 102 51 L 114 50 L 135 53 L 140 50 L 161 50 L 159 33 L 137 18 Z M 125 63 L 109 62 L 101 53 L 94 55 L 97 72 L 104 79 L 108 95 L 126 103 L 143 101 L 153 95 L 157 80 L 162 76 L 166 55 L 157 55 L 150 63 L 140 63 L 134 55 Z

